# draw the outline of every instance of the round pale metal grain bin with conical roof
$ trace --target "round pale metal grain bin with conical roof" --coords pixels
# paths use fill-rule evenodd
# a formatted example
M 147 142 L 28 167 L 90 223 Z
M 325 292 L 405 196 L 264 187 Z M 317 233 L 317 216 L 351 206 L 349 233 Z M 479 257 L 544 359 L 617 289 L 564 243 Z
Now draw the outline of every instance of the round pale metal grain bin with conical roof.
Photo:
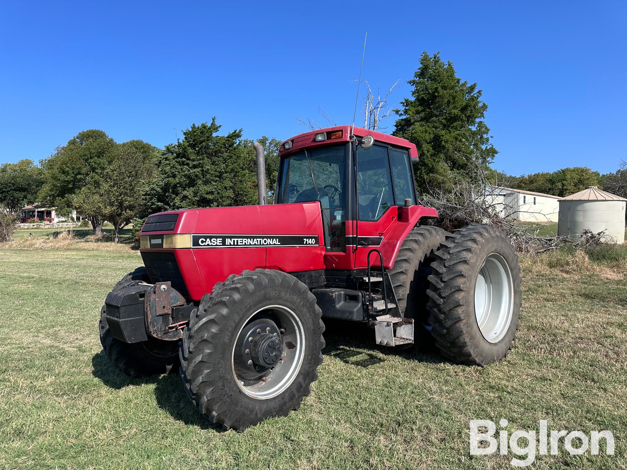
M 559 200 L 557 234 L 579 239 L 585 230 L 606 232 L 604 241 L 623 243 L 626 199 L 596 186 Z

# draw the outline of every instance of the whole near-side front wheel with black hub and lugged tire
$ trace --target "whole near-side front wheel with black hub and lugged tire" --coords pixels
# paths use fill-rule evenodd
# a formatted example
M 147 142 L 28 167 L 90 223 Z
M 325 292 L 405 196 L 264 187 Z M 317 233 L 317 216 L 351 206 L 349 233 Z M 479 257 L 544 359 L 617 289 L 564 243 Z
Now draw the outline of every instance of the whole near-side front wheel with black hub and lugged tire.
M 200 412 L 243 431 L 297 410 L 317 379 L 322 311 L 307 286 L 271 269 L 231 275 L 183 332 L 181 377 Z

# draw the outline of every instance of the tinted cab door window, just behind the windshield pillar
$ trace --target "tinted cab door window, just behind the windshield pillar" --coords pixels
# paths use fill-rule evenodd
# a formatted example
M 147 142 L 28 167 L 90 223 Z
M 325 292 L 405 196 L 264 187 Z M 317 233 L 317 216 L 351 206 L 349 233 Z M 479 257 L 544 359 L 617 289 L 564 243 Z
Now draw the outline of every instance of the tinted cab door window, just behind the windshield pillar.
M 360 221 L 376 221 L 394 206 L 387 147 L 357 150 L 357 194 Z

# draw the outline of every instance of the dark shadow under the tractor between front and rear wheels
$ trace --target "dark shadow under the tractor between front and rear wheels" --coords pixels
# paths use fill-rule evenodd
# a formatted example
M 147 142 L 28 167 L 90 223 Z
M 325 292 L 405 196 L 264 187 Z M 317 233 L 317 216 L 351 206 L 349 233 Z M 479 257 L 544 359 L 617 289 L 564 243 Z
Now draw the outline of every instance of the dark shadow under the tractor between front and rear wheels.
M 421 363 L 448 363 L 433 348 L 402 350 L 379 346 L 374 342 L 374 330 L 352 321 L 324 318 L 324 339 L 327 343 L 322 354 L 334 357 L 355 367 L 368 368 L 386 362 L 387 356 L 403 357 Z

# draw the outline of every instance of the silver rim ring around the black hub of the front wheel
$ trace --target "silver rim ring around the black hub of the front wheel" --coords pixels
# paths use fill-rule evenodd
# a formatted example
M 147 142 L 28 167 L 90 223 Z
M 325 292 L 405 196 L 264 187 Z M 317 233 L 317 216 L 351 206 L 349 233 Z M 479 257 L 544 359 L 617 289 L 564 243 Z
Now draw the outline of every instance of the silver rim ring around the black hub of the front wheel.
M 285 329 L 285 333 L 282 335 L 284 356 L 282 361 L 276 363 L 270 372 L 266 374 L 265 378 L 267 380 L 260 380 L 253 385 L 243 385 L 243 381 L 238 377 L 234 367 L 237 342 L 233 344 L 233 350 L 231 351 L 231 370 L 233 371 L 236 384 L 242 392 L 257 400 L 267 400 L 285 392 L 298 375 L 305 357 L 305 328 L 303 328 L 303 324 L 298 316 L 284 305 L 269 305 L 255 311 L 241 326 L 235 338 L 240 336 L 241 331 L 253 316 L 260 313 L 263 314 L 265 311 L 276 316 L 281 323 L 281 327 Z

